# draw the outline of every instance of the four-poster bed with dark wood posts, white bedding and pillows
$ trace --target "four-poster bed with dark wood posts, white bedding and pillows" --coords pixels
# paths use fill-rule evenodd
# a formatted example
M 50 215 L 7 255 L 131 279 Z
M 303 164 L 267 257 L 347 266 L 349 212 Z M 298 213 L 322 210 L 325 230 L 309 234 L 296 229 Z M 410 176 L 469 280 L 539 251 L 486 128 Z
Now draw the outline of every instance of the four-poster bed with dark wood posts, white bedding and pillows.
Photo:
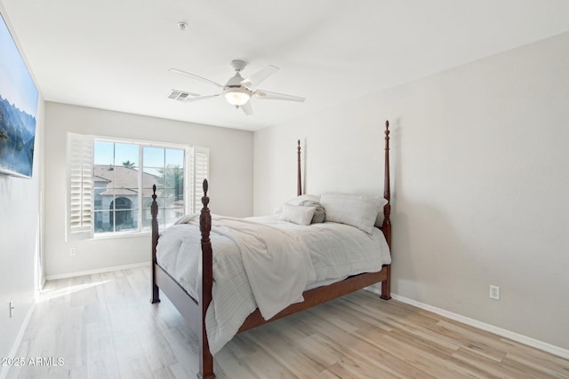
M 306 201 L 303 196 L 308 195 L 302 195 L 301 193 L 300 141 L 297 154 L 297 194 L 299 201 Z M 204 180 L 204 197 L 202 198 L 204 208 L 199 215 L 199 221 L 197 221 L 197 217 L 193 216 L 182 217 L 176 223 L 177 225 L 172 225 L 162 232 L 160 244 L 158 243 L 156 186 L 154 187 L 151 205 L 151 302 L 158 303 L 160 301 L 159 289 L 162 290 L 164 295 L 183 315 L 188 326 L 196 332 L 196 335 L 199 337 L 200 357 L 199 372 L 197 374 L 199 378 L 215 378 L 213 374 L 212 351 L 213 353 L 219 351 L 220 347 L 236 333 L 258 327 L 379 282 L 381 282 L 381 298 L 386 300 L 390 298 L 389 122 L 386 122 L 385 129 L 384 172 L 382 197 L 376 196 L 373 200 L 370 200 L 369 197 L 363 198 L 362 196 L 351 197 L 348 200 L 344 197 L 340 199 L 341 207 L 351 207 L 352 205 L 350 204 L 359 206 L 359 204 L 363 203 L 362 201 L 367 201 L 365 202 L 366 207 L 370 203 L 377 207 L 373 214 L 373 221 L 376 222 L 373 223 L 372 221 L 369 230 L 358 226 L 359 219 L 356 221 L 356 224 L 350 221 L 349 217 L 351 215 L 346 216 L 346 213 L 353 213 L 352 209 L 349 208 L 348 211 L 340 209 L 340 213 L 338 213 L 337 209 L 334 209 L 335 204 L 338 204 L 338 199 L 333 195 L 325 196 L 325 194 L 318 198 L 318 200 L 322 201 L 321 205 L 323 205 L 322 208 L 325 211 L 323 218 L 324 214 L 326 217 L 326 222 L 321 224 L 316 224 L 315 221 L 318 211 L 317 206 L 320 205 L 316 201 L 317 206 L 314 206 L 315 199 L 309 199 L 308 203 L 302 202 L 301 204 L 304 205 L 299 205 L 299 201 L 293 205 L 285 203 L 279 217 L 251 217 L 243 220 L 232 217 L 218 217 L 212 215 L 208 208 L 208 184 L 207 180 Z M 381 199 L 379 205 L 377 199 Z M 380 209 L 379 213 L 378 209 Z M 341 213 L 342 210 L 344 214 Z M 336 216 L 334 216 L 334 212 L 336 212 Z M 284 215 L 285 213 L 288 216 Z M 299 215 L 303 219 L 308 219 L 309 223 L 306 224 L 302 220 L 299 221 Z M 377 220 L 375 215 L 377 215 Z M 334 217 L 339 217 L 339 219 L 334 219 Z M 257 230 L 259 230 L 259 235 L 256 234 Z M 271 237 L 262 236 L 261 232 L 268 233 Z M 320 239 L 323 238 L 322 236 L 325 236 L 326 244 L 324 250 L 322 250 L 323 248 L 314 248 L 314 246 L 317 246 L 314 235 L 319 235 L 320 237 L 318 238 Z M 244 241 L 238 240 L 237 236 L 243 238 Z M 272 240 L 273 237 L 276 238 L 276 242 Z M 338 238 L 339 243 L 345 245 L 344 248 L 347 246 L 347 252 L 342 253 L 343 256 L 338 258 L 340 259 L 340 264 L 335 261 L 334 265 L 336 266 L 333 266 L 332 269 L 330 266 L 325 266 L 324 272 L 328 274 L 321 275 L 321 272 L 323 272 L 322 267 L 324 267 L 321 261 L 323 259 L 337 259 L 336 257 L 327 257 L 328 251 L 326 249 L 335 249 L 330 247 L 330 243 L 332 243 L 331 241 L 334 238 Z M 350 240 L 351 238 L 354 238 L 353 242 Z M 201 244 L 197 242 L 198 239 L 201 240 Z M 366 245 L 368 243 L 372 243 L 372 245 Z M 236 245 L 236 248 L 229 245 Z M 212 252 L 212 246 L 215 247 L 215 256 Z M 308 249 L 305 249 L 307 246 Z M 362 248 L 363 246 L 364 248 Z M 262 250 L 264 248 L 269 250 Z M 251 249 L 252 252 L 250 253 L 247 250 L 247 254 L 244 254 L 244 249 Z M 278 266 L 268 267 L 267 270 L 263 270 L 262 268 L 265 266 L 259 266 L 259 264 L 264 264 L 263 259 L 279 249 L 284 251 L 285 257 L 281 258 L 279 256 L 278 259 L 293 261 L 293 271 L 286 272 L 283 269 L 283 265 L 287 263 L 278 261 L 275 258 L 276 256 L 271 257 L 269 260 L 276 259 Z M 320 250 L 315 256 L 311 249 Z M 358 252 L 358 250 L 379 249 L 382 249 L 381 253 L 378 253 L 378 251 Z M 170 253 L 170 250 L 176 250 L 177 252 Z M 297 250 L 300 253 L 297 254 Z M 304 254 L 304 250 L 309 252 Z M 335 254 L 334 252 L 332 255 Z M 364 258 L 362 258 L 364 263 L 360 267 L 356 267 L 358 264 L 355 262 L 346 262 L 347 260 L 359 260 L 358 254 L 373 254 L 373 256 L 369 256 L 370 258 L 366 258 L 371 259 L 373 264 L 370 264 L 369 260 L 365 261 Z M 382 258 L 380 259 L 379 256 Z M 236 257 L 238 257 L 239 261 L 235 261 Z M 309 259 L 307 260 L 306 257 L 309 257 Z M 185 262 L 192 260 L 194 261 L 193 268 L 184 268 L 186 267 Z M 313 264 L 314 267 L 305 269 L 305 266 L 308 267 Z M 236 273 L 236 266 L 244 266 L 246 274 Z M 335 272 L 337 266 L 347 266 L 349 269 L 346 272 Z M 261 270 L 259 270 L 259 267 L 261 267 Z M 257 269 L 256 273 L 252 271 L 254 268 Z M 271 272 L 271 270 L 273 271 Z M 275 275 L 275 272 L 278 272 L 278 275 Z M 285 273 L 283 274 L 282 272 Z M 329 272 L 334 272 L 334 274 L 331 275 Z M 244 281 L 239 281 L 241 276 L 245 278 Z M 290 279 L 285 278 L 283 280 L 279 276 L 290 277 Z M 318 279 L 319 276 L 320 278 Z M 247 277 L 249 279 L 246 279 Z M 253 280 L 253 277 L 256 277 L 255 280 Z M 282 300 L 281 297 L 286 297 L 284 303 L 281 301 L 278 304 L 279 306 L 274 306 L 274 299 L 262 299 L 267 294 L 261 294 L 260 290 L 263 287 L 270 287 L 271 282 L 276 282 L 276 285 L 270 289 L 268 296 L 280 296 L 277 299 L 278 301 Z M 301 286 L 299 294 L 289 296 L 285 293 L 288 288 L 292 288 L 291 291 L 298 291 L 298 286 Z M 222 288 L 229 289 L 222 290 Z M 238 291 L 230 292 L 233 288 L 238 289 Z M 227 290 L 229 291 L 228 293 L 223 292 Z M 284 292 L 279 293 L 280 290 Z M 243 295 L 244 293 L 246 294 Z M 236 321 L 222 320 L 221 314 L 224 307 L 229 307 L 228 312 L 231 313 L 241 312 L 243 314 L 242 318 Z M 213 324 L 215 326 L 212 326 Z M 229 331 L 228 336 L 218 336 L 225 333 L 222 330 L 224 328 L 233 329 Z M 227 333 L 225 334 L 227 335 Z

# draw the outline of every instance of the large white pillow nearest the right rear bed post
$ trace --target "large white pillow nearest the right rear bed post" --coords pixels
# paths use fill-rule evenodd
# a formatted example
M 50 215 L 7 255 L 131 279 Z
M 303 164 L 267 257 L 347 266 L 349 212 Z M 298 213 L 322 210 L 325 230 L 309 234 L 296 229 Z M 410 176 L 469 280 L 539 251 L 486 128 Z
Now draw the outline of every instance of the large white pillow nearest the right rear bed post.
M 351 193 L 324 193 L 320 203 L 325 209 L 325 220 L 347 224 L 372 233 L 385 199 Z

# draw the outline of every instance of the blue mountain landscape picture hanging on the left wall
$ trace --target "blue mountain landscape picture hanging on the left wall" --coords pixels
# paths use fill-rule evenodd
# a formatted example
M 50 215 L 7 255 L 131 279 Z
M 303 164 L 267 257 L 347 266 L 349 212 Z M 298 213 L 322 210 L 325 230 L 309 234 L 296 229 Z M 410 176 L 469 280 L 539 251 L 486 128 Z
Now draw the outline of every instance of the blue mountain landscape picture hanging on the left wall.
M 37 88 L 0 14 L 0 174 L 32 177 Z

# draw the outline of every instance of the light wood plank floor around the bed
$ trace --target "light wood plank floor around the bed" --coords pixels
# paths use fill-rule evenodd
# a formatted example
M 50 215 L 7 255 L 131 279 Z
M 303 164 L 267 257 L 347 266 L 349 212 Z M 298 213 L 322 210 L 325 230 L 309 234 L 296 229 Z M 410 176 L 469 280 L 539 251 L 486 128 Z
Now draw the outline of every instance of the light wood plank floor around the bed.
M 9 378 L 195 378 L 196 336 L 149 268 L 47 283 L 18 356 L 62 366 L 13 367 Z M 236 336 L 218 377 L 569 378 L 569 360 L 359 291 Z

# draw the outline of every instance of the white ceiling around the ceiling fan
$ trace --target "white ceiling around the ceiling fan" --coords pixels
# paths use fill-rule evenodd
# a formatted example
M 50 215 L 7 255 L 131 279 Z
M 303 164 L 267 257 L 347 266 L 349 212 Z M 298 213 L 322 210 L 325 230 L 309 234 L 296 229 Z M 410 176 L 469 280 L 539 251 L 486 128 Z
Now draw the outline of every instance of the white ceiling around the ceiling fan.
M 313 114 L 569 30 L 566 0 L 0 0 L 44 99 L 244 130 Z M 178 23 L 188 28 L 180 31 Z M 280 67 L 260 88 L 307 98 L 166 99 Z

